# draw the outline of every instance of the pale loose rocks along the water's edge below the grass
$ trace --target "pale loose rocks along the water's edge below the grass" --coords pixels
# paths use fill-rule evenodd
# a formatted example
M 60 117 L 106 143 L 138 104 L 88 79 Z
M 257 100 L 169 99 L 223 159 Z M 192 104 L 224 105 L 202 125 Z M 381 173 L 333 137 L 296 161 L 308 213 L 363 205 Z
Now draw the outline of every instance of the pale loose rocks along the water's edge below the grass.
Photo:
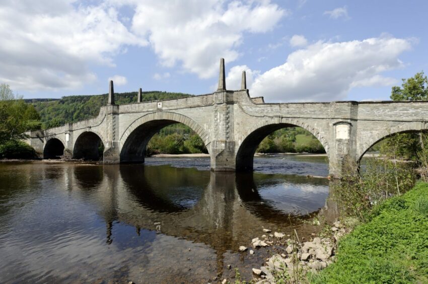
M 340 221 L 333 223 L 328 234 L 316 237 L 309 241 L 301 241 L 294 231 L 294 235 L 286 235 L 263 229 L 264 235 L 254 238 L 251 246 L 254 250 L 260 247 L 272 247 L 282 249 L 283 253 L 276 253 L 266 258 L 261 267 L 253 268 L 253 277 L 256 283 L 275 283 L 275 279 L 284 279 L 288 282 L 298 282 L 308 272 L 316 272 L 334 261 L 337 249 L 337 241 L 348 234 L 351 230 Z M 303 238 L 304 239 L 304 238 Z M 241 246 L 239 250 L 246 251 L 248 248 Z M 250 254 L 254 254 L 250 250 Z

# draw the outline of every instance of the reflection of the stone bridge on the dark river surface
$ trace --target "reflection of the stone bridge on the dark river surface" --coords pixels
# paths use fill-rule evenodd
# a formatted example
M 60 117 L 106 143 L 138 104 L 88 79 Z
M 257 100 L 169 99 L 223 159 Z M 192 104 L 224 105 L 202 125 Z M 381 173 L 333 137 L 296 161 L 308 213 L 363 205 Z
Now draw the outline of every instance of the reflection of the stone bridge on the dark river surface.
M 83 166 L 82 166 L 83 167 Z M 106 222 L 106 242 L 114 242 L 115 222 L 203 243 L 224 254 L 260 236 L 262 228 L 301 236 L 320 228 L 302 221 L 321 213 L 334 219 L 327 206 L 328 180 L 290 175 L 199 171 L 170 166 L 104 165 L 74 170 L 82 190 L 94 188 L 93 200 L 103 200 L 98 214 Z M 102 170 L 102 171 L 101 171 Z M 98 185 L 94 185 L 94 181 Z M 86 189 L 84 189 L 86 188 Z

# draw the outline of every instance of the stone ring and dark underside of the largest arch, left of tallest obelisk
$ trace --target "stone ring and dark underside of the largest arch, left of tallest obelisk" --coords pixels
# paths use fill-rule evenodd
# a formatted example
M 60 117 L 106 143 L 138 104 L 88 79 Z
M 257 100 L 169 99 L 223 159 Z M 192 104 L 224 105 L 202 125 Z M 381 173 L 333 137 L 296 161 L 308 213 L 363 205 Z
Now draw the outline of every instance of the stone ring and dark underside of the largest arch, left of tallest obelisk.
M 120 137 L 120 144 L 122 145 L 120 162 L 144 162 L 146 148 L 153 135 L 162 128 L 175 123 L 183 123 L 190 127 L 199 135 L 209 152 L 209 134 L 194 120 L 178 113 L 154 112 L 136 119 Z

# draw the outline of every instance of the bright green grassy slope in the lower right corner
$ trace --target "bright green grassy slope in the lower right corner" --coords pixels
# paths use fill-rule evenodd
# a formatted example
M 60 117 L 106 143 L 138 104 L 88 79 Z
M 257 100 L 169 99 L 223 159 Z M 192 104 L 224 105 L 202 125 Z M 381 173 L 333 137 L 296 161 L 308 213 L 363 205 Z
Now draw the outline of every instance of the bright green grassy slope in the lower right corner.
M 428 283 L 428 183 L 373 210 L 314 283 Z

